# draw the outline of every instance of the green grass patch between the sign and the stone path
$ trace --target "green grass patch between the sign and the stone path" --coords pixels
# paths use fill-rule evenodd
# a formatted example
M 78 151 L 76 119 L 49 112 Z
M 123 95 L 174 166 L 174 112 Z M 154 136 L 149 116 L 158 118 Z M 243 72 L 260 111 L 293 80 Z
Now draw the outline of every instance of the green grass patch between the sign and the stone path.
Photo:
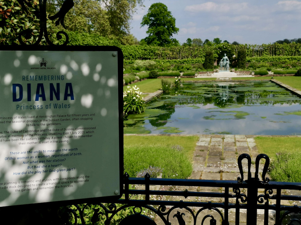
M 162 178 L 184 179 L 192 173 L 198 136 L 124 136 L 123 140 L 124 172 L 131 177 L 150 166 L 163 169 Z

